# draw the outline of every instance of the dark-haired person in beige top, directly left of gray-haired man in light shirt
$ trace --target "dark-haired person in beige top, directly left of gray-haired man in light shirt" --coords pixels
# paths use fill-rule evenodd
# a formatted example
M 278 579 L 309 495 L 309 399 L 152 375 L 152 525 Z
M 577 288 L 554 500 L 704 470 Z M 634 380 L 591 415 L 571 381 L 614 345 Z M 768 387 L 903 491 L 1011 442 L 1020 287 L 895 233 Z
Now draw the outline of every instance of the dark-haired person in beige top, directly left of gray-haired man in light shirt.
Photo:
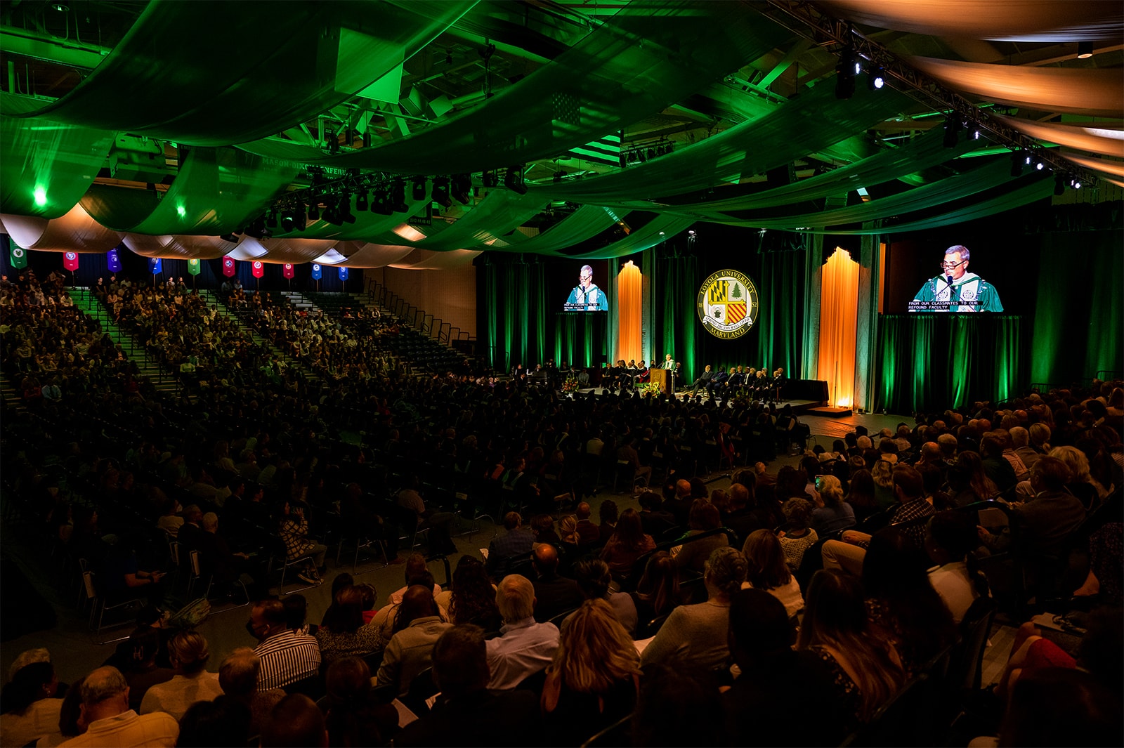
M 395 684 L 398 693 L 406 695 L 415 676 L 432 664 L 434 642 L 451 626 L 441 614 L 433 590 L 410 586 L 395 614 L 393 636 L 382 655 L 375 685 Z

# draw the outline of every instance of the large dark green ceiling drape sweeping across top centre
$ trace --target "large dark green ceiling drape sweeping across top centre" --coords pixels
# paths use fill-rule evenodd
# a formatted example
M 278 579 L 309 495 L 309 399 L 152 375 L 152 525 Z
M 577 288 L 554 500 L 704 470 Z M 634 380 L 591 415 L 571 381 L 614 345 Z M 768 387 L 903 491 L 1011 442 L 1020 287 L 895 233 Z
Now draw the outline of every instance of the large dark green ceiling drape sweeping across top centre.
M 294 143 L 239 147 L 272 158 L 399 173 L 460 173 L 550 158 L 690 95 L 791 38 L 742 3 L 623 7 L 573 48 L 484 103 L 407 137 L 326 156 Z

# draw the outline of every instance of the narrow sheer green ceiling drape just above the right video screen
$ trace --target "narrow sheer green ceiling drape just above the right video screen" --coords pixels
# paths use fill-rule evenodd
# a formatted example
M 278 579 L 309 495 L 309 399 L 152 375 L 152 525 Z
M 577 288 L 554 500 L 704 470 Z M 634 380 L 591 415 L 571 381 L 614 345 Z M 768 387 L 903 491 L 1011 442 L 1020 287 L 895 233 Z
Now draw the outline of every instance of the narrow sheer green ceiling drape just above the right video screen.
M 948 176 L 939 182 L 914 188 L 887 198 L 860 202 L 855 206 L 776 218 L 770 217 L 769 213 L 764 213 L 758 218 L 738 217 L 736 220 L 724 220 L 720 222 L 731 226 L 787 229 L 790 231 L 803 230 L 809 226 L 824 228 L 827 226 L 858 224 L 860 221 L 872 221 L 879 218 L 890 218 L 901 213 L 934 208 L 953 200 L 994 190 L 1015 179 L 1017 177 L 1010 175 L 1010 164 L 1008 161 L 1000 158 L 973 168 L 970 172 Z M 772 213 L 772 216 L 774 215 L 776 212 Z

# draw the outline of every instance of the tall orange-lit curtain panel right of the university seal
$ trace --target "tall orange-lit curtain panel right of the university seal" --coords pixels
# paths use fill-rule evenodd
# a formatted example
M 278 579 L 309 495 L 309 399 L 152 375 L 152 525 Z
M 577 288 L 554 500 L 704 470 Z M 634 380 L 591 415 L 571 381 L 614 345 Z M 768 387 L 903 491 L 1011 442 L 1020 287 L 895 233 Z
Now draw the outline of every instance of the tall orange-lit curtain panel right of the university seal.
M 839 247 L 824 265 L 819 297 L 819 374 L 831 404 L 854 404 L 854 350 L 859 322 L 859 263 Z

